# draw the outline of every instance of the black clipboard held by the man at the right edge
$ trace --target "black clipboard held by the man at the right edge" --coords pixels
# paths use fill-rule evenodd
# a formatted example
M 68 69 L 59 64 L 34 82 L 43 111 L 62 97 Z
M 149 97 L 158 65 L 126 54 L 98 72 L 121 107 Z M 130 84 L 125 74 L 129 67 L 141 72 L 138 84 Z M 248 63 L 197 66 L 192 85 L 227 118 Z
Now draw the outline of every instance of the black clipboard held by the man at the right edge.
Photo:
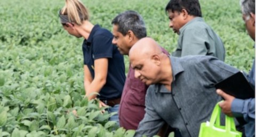
M 239 99 L 255 98 L 254 87 L 247 81 L 242 72 L 237 72 L 227 79 L 215 84 L 216 89 L 228 93 Z

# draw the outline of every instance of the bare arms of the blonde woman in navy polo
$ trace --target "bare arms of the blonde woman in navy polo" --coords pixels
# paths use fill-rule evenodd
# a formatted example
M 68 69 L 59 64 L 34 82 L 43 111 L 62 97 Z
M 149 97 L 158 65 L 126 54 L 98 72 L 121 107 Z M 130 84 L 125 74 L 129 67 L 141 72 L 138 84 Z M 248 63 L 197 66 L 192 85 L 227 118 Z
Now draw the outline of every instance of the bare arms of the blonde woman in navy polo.
M 90 71 L 88 67 L 84 69 L 85 71 L 85 79 L 84 85 L 86 89 L 85 96 L 88 97 L 89 100 L 94 99 L 97 95 L 92 95 L 93 92 L 99 93 L 103 85 L 106 83 L 107 72 L 108 72 L 108 58 L 99 58 L 94 61 L 94 79 L 92 80 Z M 86 74 L 87 73 L 87 74 Z M 89 73 L 89 74 L 88 74 Z M 90 74 L 91 75 L 91 74 Z M 90 80 L 92 80 L 90 82 Z

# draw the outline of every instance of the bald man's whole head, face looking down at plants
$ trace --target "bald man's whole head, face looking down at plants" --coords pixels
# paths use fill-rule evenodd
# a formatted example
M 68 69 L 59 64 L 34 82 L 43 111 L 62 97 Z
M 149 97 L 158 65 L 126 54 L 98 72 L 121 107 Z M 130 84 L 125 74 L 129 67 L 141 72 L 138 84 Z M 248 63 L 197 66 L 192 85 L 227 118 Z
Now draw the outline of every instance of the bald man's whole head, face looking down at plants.
M 129 59 L 134 69 L 134 77 L 143 83 L 170 83 L 170 59 L 154 39 L 142 38 L 137 41 L 130 49 Z

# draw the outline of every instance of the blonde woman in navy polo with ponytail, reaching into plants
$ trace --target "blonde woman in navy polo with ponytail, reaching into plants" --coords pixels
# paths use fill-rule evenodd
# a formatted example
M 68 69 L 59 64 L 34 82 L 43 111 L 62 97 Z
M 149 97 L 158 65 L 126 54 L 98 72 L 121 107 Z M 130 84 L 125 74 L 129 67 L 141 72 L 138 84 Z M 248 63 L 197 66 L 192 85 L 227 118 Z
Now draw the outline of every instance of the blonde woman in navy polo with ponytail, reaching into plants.
M 110 106 L 108 112 L 118 112 L 125 82 L 124 59 L 116 46 L 111 44 L 113 35 L 98 24 L 89 21 L 87 8 L 79 0 L 66 0 L 59 12 L 60 22 L 70 35 L 84 38 L 85 96 L 99 98 L 101 106 Z M 99 96 L 93 94 L 99 93 Z M 118 116 L 110 117 L 117 121 Z

